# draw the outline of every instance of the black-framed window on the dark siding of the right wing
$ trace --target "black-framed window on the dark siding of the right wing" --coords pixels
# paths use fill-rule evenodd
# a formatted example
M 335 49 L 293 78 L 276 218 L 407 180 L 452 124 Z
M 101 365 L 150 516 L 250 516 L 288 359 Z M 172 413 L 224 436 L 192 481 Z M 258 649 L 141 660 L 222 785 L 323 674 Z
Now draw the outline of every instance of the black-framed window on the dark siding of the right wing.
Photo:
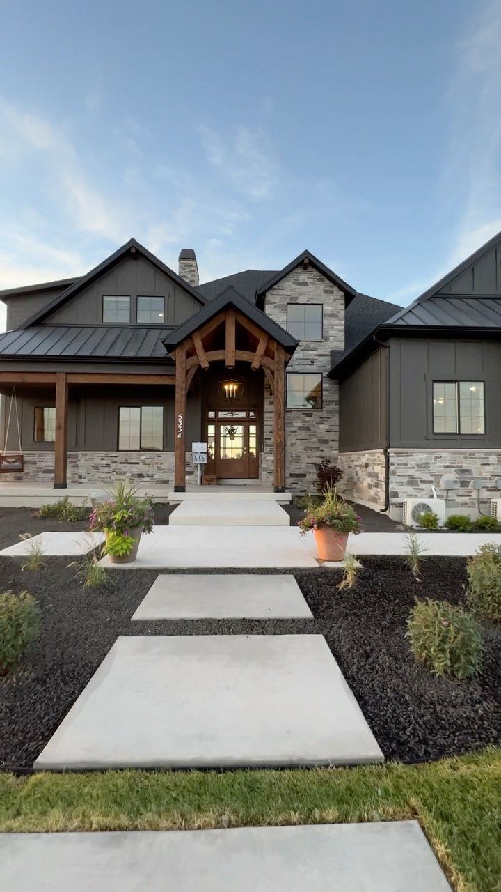
M 483 381 L 433 382 L 433 434 L 485 434 Z

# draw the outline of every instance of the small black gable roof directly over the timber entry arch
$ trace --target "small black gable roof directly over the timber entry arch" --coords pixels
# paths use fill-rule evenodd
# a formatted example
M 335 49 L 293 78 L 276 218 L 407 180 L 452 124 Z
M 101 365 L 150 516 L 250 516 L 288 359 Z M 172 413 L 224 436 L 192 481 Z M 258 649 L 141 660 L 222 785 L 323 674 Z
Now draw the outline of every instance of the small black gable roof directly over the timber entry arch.
M 259 310 L 258 307 L 246 300 L 243 294 L 236 291 L 231 285 L 228 285 L 225 291 L 221 292 L 218 297 L 210 301 L 205 307 L 202 307 L 198 313 L 195 313 L 182 325 L 175 328 L 170 335 L 163 338 L 165 349 L 168 352 L 175 350 L 177 345 L 182 343 L 185 338 L 193 335 L 193 332 L 196 332 L 206 322 L 209 322 L 209 319 L 216 316 L 221 310 L 226 310 L 228 306 L 234 307 L 235 310 L 239 310 L 244 316 L 250 318 L 267 335 L 274 338 L 283 347 L 286 347 L 289 352 L 293 352 L 298 346 L 299 342 L 296 338 L 292 337 L 289 332 L 286 332 L 282 326 L 277 325 L 266 313 L 263 313 L 262 310 Z

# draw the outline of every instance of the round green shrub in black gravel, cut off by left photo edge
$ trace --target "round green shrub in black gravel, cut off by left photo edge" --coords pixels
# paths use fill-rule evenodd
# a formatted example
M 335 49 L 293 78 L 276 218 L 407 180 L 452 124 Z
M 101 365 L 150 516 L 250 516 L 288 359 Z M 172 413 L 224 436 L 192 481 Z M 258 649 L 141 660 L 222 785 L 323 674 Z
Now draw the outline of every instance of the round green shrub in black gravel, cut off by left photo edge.
M 0 593 L 0 675 L 17 663 L 22 652 L 36 638 L 39 625 L 37 601 L 28 593 Z

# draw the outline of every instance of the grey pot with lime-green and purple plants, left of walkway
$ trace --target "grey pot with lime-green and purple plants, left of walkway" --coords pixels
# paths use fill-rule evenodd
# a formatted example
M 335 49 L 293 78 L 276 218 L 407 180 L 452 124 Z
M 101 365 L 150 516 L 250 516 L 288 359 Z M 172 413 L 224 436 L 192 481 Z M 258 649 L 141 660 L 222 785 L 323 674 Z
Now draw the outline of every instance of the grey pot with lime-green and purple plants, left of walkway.
M 152 532 L 152 498 L 139 498 L 136 492 L 130 483 L 117 483 L 111 498 L 96 505 L 90 516 L 91 530 L 104 533 L 103 554 L 112 564 L 136 560 L 142 534 Z

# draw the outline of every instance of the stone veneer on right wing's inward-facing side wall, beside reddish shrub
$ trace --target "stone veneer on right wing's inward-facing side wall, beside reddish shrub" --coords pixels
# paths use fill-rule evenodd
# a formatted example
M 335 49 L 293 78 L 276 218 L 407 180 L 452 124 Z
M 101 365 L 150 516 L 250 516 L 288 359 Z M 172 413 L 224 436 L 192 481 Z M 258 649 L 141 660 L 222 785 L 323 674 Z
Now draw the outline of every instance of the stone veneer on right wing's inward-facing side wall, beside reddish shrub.
M 340 495 L 384 508 L 386 470 L 382 449 L 340 452 L 336 464 L 342 471 L 337 487 Z

